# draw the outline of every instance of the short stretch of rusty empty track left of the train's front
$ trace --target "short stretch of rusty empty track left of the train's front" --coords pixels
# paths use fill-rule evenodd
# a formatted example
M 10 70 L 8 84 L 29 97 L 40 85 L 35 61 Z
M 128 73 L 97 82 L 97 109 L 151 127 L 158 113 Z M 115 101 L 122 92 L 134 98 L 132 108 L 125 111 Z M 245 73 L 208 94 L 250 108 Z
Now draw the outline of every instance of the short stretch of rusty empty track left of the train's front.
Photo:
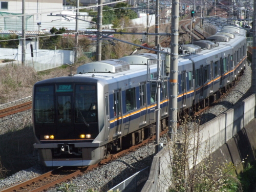
M 0 110 L 0 118 L 8 116 L 8 115 L 12 115 L 18 112 L 22 112 L 22 111 L 26 111 L 32 108 L 32 101 L 26 102 L 26 103 L 22 103 L 22 104 L 18 104 L 15 106 L 11 106 L 10 108 L 6 108 L 3 110 Z

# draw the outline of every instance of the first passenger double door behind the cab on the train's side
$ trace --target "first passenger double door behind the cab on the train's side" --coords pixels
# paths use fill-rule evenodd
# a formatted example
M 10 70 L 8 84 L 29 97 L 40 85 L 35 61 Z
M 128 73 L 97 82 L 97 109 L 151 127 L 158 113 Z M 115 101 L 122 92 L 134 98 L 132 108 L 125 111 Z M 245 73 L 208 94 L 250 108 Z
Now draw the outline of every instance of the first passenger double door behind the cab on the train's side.
M 121 125 L 122 125 L 122 111 L 121 111 L 121 91 L 116 90 L 113 93 L 113 99 L 114 99 L 114 131 L 113 137 L 116 135 L 120 135 Z

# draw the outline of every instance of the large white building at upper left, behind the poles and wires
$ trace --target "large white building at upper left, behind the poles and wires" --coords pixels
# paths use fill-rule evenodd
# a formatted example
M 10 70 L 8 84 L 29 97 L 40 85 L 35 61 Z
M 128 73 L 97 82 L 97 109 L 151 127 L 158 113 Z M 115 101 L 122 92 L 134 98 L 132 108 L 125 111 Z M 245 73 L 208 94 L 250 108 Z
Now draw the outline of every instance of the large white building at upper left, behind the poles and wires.
M 0 30 L 22 30 L 22 0 L 0 0 Z M 76 22 L 75 10 L 67 6 L 63 8 L 62 0 L 26 0 L 26 30 L 27 31 L 41 31 L 49 30 L 52 27 L 67 29 L 75 29 Z M 74 9 L 74 7 L 73 7 Z M 56 14 L 65 14 L 66 18 L 61 16 L 49 16 Z M 91 17 L 79 16 L 80 19 L 90 20 Z M 38 25 L 40 24 L 40 25 Z M 79 30 L 90 28 L 91 24 L 88 22 L 79 21 Z

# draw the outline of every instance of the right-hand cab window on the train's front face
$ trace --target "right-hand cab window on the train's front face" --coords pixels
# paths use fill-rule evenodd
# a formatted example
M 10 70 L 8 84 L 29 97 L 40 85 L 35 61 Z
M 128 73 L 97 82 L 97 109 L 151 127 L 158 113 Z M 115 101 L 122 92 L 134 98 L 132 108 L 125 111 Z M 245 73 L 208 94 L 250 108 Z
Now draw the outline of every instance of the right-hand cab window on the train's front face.
M 75 86 L 75 122 L 98 121 L 97 89 L 94 84 Z

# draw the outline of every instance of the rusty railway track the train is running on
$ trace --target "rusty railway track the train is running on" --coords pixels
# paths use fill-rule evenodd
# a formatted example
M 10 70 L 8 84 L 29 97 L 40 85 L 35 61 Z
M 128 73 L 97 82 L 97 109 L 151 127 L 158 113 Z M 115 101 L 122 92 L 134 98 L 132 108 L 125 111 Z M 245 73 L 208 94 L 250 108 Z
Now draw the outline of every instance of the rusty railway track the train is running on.
M 167 130 L 162 131 L 160 133 L 160 136 L 165 134 L 166 132 Z M 48 173 L 42 174 L 38 177 L 32 178 L 23 183 L 19 183 L 15 186 L 4 189 L 1 192 L 14 192 L 14 191 L 15 192 L 24 192 L 24 191 L 41 192 L 41 191 L 47 190 L 48 188 L 53 187 L 56 184 L 69 181 L 74 177 L 86 174 L 87 172 L 89 172 L 93 168 L 96 168 L 97 166 L 100 166 L 102 164 L 115 160 L 124 154 L 133 152 L 137 148 L 141 147 L 142 145 L 145 145 L 147 142 L 153 141 L 154 139 L 155 139 L 155 136 L 148 138 L 142 141 L 141 143 L 128 148 L 127 150 L 123 150 L 117 154 L 111 155 L 109 158 L 101 160 L 98 164 L 84 166 L 84 167 L 58 167 L 54 170 L 51 170 Z

